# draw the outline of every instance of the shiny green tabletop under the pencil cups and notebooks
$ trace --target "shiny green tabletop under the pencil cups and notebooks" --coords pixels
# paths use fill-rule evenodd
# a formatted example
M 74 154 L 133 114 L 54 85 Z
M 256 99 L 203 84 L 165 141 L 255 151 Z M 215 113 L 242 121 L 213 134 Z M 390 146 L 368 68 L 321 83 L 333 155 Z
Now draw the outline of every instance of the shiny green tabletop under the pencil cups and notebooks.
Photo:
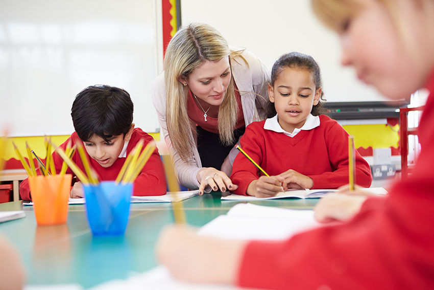
M 203 226 L 227 213 L 237 203 L 220 200 L 221 193 L 185 200 L 187 222 Z M 274 199 L 257 205 L 312 209 L 318 199 Z M 21 201 L 0 204 L 0 211 L 20 210 Z M 0 224 L 0 234 L 20 252 L 27 284 L 78 283 L 84 288 L 157 265 L 154 247 L 161 228 L 174 221 L 171 204 L 132 204 L 124 237 L 92 238 L 83 205 L 71 205 L 65 225 L 37 226 L 33 207 L 25 206 L 26 217 Z

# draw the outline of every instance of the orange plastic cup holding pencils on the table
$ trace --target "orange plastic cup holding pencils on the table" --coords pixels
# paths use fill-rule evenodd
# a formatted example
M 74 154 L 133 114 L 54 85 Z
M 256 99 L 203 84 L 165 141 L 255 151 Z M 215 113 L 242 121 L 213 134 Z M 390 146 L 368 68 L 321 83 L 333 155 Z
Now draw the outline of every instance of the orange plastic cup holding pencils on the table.
M 65 224 L 71 179 L 71 174 L 29 176 L 33 210 L 38 225 Z

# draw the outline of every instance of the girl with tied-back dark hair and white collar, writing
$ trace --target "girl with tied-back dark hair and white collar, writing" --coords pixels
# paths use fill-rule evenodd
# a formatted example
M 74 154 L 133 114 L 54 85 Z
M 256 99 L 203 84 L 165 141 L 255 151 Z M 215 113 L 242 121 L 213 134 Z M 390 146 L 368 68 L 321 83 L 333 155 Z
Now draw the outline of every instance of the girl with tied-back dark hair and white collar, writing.
M 321 86 L 320 68 L 311 56 L 292 52 L 274 63 L 269 119 L 250 124 L 240 139 L 243 150 L 271 176 L 259 176 L 253 163 L 238 154 L 231 175 L 238 185 L 235 193 L 269 197 L 290 188 L 348 183 L 348 133 L 321 115 Z M 363 187 L 372 182 L 371 169 L 357 151 L 355 180 Z

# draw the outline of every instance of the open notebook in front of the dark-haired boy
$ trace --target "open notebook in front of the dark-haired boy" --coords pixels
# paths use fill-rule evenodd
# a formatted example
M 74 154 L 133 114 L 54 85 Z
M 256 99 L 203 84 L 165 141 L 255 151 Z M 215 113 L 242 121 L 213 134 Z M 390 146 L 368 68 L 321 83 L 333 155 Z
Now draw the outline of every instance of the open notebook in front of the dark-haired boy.
M 199 195 L 199 190 L 190 191 L 177 191 L 175 194 L 167 192 L 164 195 L 154 195 L 154 196 L 131 196 L 131 203 L 172 203 L 180 202 L 181 200 L 188 199 L 190 197 Z M 69 198 L 70 205 L 82 205 L 85 204 L 86 200 L 84 198 Z M 33 206 L 33 202 L 23 203 L 25 206 Z

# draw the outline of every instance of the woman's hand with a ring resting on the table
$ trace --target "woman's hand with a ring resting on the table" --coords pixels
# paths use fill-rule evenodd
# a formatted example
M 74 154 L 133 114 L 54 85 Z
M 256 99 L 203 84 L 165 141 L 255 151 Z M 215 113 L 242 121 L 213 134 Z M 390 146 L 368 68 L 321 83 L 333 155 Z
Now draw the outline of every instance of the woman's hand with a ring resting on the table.
M 237 185 L 232 184 L 232 181 L 225 172 L 213 167 L 204 167 L 199 170 L 197 179 L 201 183 L 199 186 L 199 195 L 204 193 L 207 185 L 209 185 L 213 191 L 220 190 L 221 192 L 238 188 Z

